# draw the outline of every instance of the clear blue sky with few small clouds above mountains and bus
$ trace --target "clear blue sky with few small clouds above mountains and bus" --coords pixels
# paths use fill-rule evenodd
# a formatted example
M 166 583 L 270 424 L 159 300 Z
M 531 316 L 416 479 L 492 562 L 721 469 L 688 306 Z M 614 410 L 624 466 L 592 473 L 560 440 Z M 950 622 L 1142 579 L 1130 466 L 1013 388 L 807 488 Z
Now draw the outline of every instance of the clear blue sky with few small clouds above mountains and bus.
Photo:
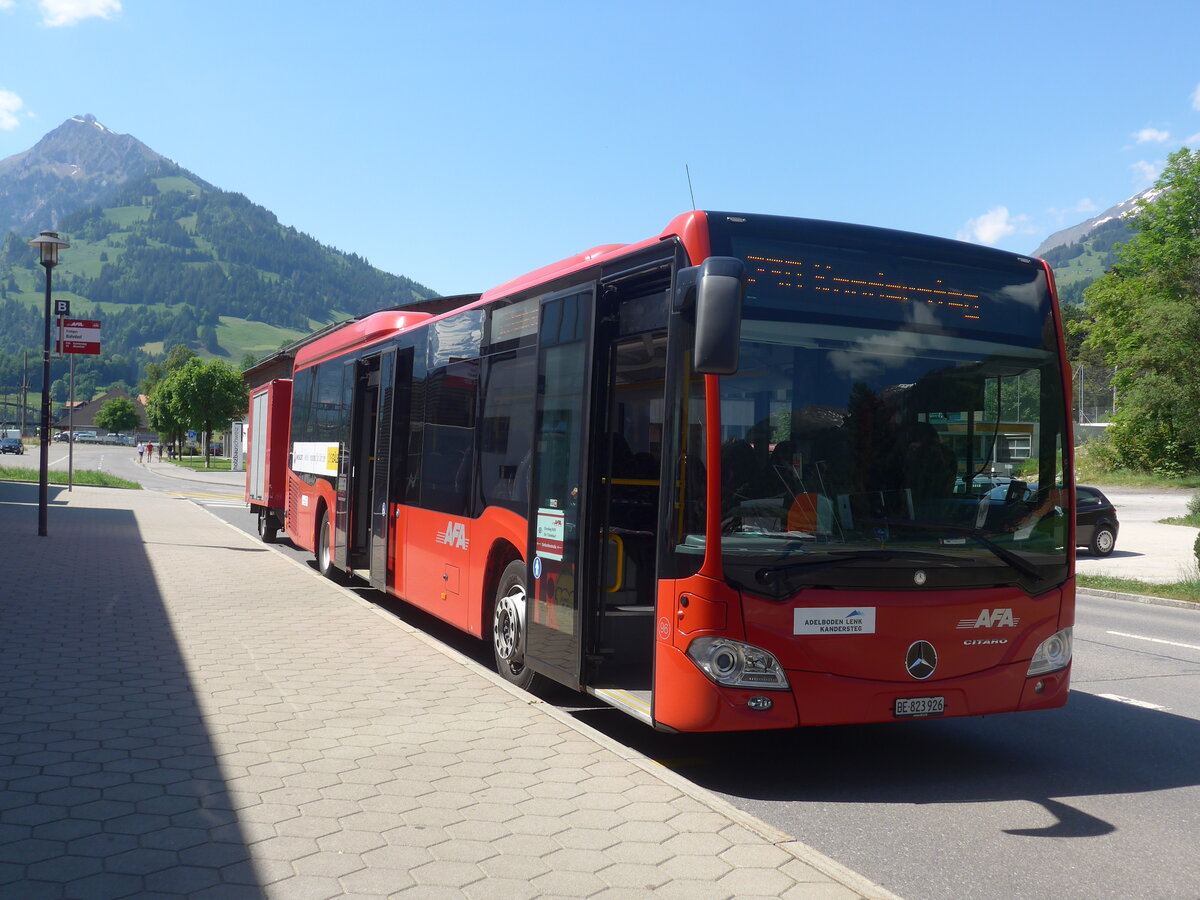
M 91 113 L 444 294 L 656 234 L 685 166 L 700 208 L 1030 252 L 1200 146 L 1198 35 L 1195 0 L 0 0 L 0 158 Z

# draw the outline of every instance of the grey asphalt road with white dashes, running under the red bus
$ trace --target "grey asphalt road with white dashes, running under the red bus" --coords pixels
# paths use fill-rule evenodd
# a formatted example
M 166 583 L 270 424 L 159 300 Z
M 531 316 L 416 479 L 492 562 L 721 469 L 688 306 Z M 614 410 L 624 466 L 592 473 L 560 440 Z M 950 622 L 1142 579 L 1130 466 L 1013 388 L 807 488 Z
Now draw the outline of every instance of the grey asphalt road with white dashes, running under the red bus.
M 254 530 L 235 486 L 92 451 Z M 1105 564 L 1153 559 L 1157 529 L 1136 524 L 1177 515 L 1187 494 L 1106 493 L 1129 556 Z M 362 593 L 486 664 L 482 643 Z M 565 690 L 544 696 L 900 896 L 1200 898 L 1200 610 L 1082 596 L 1073 688 L 1060 710 L 750 736 L 658 734 Z

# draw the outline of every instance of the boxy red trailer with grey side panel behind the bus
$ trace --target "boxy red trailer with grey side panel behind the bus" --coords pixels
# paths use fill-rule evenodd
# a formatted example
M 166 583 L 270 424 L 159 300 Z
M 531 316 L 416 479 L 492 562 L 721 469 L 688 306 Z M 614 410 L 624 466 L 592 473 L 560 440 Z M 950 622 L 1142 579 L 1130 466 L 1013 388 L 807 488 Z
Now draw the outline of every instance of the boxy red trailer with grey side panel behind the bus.
M 290 420 L 290 378 L 276 378 L 251 390 L 246 503 L 258 514 L 258 534 L 266 544 L 274 542 L 283 527 Z

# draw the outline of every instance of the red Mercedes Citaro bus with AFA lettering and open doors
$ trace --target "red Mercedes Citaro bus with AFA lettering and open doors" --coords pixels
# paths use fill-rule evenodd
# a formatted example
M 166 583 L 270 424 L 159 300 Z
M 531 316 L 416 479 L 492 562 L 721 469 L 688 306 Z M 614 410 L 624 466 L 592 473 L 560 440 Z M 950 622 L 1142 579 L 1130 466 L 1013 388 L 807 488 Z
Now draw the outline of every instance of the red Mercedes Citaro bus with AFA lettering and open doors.
M 1069 386 L 1040 260 L 692 211 L 300 347 L 260 522 L 664 731 L 1058 707 Z

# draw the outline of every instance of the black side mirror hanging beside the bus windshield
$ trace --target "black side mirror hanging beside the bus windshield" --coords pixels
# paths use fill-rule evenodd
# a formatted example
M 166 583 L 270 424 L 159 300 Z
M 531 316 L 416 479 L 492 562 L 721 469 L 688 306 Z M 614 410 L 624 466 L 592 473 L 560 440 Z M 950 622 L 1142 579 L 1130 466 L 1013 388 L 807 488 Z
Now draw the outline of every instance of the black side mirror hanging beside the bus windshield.
M 734 374 L 742 341 L 745 266 L 736 257 L 709 257 L 676 275 L 674 308 L 696 308 L 692 371 Z

